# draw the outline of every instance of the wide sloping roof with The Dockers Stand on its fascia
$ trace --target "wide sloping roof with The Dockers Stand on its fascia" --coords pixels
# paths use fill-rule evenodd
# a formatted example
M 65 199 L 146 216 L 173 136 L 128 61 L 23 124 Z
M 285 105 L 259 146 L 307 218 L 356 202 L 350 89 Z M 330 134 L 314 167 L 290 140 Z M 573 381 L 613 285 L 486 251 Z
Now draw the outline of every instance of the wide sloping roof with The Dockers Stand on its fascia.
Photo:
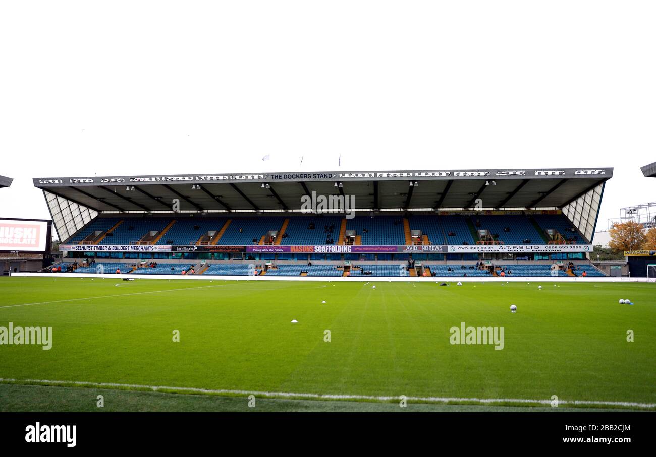
M 34 178 L 45 192 L 104 211 L 299 210 L 301 196 L 354 195 L 358 210 L 562 208 L 613 175 L 613 168 L 281 172 Z

